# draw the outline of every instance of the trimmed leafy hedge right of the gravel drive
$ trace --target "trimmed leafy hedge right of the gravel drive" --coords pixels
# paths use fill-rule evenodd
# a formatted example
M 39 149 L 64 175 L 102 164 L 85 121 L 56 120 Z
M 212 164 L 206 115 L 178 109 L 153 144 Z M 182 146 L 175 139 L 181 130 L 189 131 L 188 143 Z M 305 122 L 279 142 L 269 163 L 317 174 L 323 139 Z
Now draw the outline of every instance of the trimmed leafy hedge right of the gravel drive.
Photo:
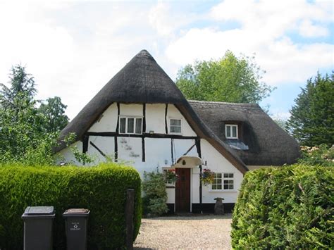
M 235 249 L 333 249 L 334 168 L 249 171 L 232 223 Z

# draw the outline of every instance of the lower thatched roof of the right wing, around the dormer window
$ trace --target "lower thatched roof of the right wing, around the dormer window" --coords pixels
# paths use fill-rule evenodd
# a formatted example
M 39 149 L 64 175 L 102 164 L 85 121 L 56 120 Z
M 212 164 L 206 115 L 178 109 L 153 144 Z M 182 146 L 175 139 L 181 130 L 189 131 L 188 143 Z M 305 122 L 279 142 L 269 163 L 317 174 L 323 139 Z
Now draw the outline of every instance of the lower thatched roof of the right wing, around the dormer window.
M 225 124 L 240 127 L 241 141 L 248 150 L 235 150 L 246 165 L 283 165 L 295 163 L 299 144 L 280 128 L 257 104 L 231 104 L 189 101 L 211 130 L 225 143 Z

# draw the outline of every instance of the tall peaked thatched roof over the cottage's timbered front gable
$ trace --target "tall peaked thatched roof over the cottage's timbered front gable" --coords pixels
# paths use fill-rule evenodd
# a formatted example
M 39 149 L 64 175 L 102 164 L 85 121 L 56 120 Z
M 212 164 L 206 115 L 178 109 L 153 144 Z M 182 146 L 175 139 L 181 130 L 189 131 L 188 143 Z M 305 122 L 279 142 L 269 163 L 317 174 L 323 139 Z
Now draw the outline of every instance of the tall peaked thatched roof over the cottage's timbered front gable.
M 209 127 L 198 117 L 187 100 L 176 87 L 173 80 L 156 63 L 146 50 L 140 51 L 125 65 L 82 111 L 61 131 L 63 139 L 70 132 L 75 133 L 77 139 L 82 139 L 85 132 L 93 125 L 113 102 L 135 104 L 174 104 L 185 116 L 192 129 L 199 137 L 207 139 L 218 151 L 225 156 L 242 173 L 247 171 L 245 163 L 221 141 Z M 61 144 L 55 151 L 64 149 Z

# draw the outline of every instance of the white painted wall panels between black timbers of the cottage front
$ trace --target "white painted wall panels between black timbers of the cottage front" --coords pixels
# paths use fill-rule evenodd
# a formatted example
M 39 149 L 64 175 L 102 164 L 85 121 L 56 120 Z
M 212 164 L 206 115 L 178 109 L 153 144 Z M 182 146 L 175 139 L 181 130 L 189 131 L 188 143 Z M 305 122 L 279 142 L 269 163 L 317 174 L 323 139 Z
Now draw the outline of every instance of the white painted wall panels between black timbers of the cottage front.
M 146 106 L 146 126 L 147 132 L 165 134 L 165 108 L 166 104 L 147 104 Z M 120 104 L 120 115 L 140 116 L 142 117 L 142 104 Z M 196 136 L 187 120 L 178 111 L 178 108 L 168 105 L 168 130 L 169 118 L 182 119 L 182 135 Z M 89 132 L 116 132 L 117 125 L 117 105 L 112 104 L 104 111 Z M 114 137 L 89 136 L 89 142 L 93 142 L 107 156 L 113 157 L 114 154 Z M 166 139 L 166 138 L 145 138 L 145 162 L 142 162 L 142 138 L 137 137 L 118 137 L 118 162 L 125 162 L 133 165 L 143 177 L 144 171 L 156 171 L 162 173 L 163 168 L 170 168 L 172 165 L 171 143 L 173 143 L 174 161 L 194 145 L 194 139 Z M 73 144 L 82 150 L 82 142 Z M 216 173 L 234 173 L 235 190 L 233 191 L 212 191 L 211 185 L 203 186 L 203 203 L 214 203 L 214 198 L 223 197 L 225 203 L 235 203 L 237 200 L 238 189 L 242 182 L 242 173 L 227 161 L 209 142 L 201 139 L 202 159 L 207 163 L 203 168 L 209 168 Z M 66 161 L 75 161 L 73 153 L 69 149 L 63 149 L 60 152 Z M 99 154 L 97 149 L 88 144 L 87 154 L 94 156 L 96 162 L 106 161 L 104 156 Z M 198 156 L 196 146 L 187 154 L 187 156 Z M 193 167 L 187 166 L 184 167 Z M 191 170 L 191 202 L 199 203 L 199 167 L 195 166 Z M 175 189 L 166 189 L 168 193 L 168 203 L 175 202 Z

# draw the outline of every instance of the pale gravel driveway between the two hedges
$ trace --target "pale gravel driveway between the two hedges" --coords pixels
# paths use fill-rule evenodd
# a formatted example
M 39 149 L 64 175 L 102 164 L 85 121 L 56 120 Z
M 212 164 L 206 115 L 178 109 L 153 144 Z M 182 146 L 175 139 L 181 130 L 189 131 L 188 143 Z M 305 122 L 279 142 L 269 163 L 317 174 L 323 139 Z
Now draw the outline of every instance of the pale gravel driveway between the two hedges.
M 143 218 L 135 249 L 231 249 L 231 215 Z

